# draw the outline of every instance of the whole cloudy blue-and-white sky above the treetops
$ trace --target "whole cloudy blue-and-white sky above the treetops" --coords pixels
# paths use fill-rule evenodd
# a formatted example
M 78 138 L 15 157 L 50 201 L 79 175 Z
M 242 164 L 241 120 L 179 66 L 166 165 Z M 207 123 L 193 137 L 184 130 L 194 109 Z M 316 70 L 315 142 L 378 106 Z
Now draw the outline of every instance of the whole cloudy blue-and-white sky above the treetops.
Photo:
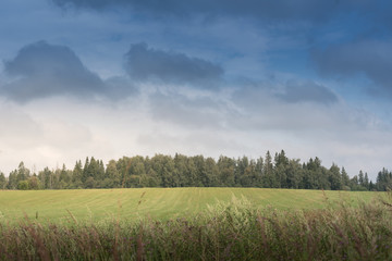
M 3 0 L 0 171 L 156 153 L 392 169 L 392 2 Z

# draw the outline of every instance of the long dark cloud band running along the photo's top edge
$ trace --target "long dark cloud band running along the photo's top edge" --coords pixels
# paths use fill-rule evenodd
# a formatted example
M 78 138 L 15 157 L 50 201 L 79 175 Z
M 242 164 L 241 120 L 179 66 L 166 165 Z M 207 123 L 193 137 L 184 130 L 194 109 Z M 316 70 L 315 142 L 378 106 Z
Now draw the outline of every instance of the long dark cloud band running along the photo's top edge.
M 127 8 L 136 12 L 154 15 L 182 16 L 203 14 L 208 16 L 232 15 L 252 16 L 258 20 L 301 20 L 319 21 L 329 16 L 333 11 L 344 9 L 346 5 L 355 8 L 368 0 L 52 0 L 56 4 L 68 8 L 84 8 L 105 10 L 109 8 Z

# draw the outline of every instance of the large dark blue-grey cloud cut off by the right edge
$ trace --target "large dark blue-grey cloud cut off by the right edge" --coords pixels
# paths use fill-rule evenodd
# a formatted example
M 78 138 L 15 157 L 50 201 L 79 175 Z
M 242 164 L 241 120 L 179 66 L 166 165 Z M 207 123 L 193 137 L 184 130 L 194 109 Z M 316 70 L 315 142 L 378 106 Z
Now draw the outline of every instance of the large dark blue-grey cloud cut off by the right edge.
M 324 76 L 366 75 L 381 92 L 392 95 L 392 41 L 363 40 L 314 50 L 313 59 Z

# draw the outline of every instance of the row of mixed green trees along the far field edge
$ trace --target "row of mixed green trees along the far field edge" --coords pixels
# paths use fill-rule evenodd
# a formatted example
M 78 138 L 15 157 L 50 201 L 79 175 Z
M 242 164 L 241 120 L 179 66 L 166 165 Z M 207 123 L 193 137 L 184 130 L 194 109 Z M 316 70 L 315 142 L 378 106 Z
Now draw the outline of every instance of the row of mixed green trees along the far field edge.
M 123 157 L 110 160 L 86 158 L 72 170 L 29 171 L 23 162 L 8 177 L 0 172 L 0 189 L 76 189 L 76 188 L 136 188 L 136 187 L 260 187 L 331 190 L 380 190 L 392 187 L 392 172 L 383 169 L 377 181 L 369 181 L 360 171 L 350 177 L 344 167 L 332 164 L 329 169 L 319 158 L 301 163 L 289 159 L 284 150 L 274 157 L 267 151 L 258 159 L 225 156 L 205 158 L 156 154 Z

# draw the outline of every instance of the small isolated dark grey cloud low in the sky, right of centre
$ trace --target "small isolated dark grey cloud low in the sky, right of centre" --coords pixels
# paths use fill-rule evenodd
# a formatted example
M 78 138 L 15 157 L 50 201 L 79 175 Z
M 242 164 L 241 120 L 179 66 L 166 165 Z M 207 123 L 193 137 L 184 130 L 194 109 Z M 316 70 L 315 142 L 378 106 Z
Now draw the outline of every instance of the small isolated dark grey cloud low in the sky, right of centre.
M 331 104 L 338 102 L 338 97 L 330 89 L 314 82 L 298 83 L 290 80 L 286 84 L 285 92 L 277 96 L 290 103 L 315 102 Z

